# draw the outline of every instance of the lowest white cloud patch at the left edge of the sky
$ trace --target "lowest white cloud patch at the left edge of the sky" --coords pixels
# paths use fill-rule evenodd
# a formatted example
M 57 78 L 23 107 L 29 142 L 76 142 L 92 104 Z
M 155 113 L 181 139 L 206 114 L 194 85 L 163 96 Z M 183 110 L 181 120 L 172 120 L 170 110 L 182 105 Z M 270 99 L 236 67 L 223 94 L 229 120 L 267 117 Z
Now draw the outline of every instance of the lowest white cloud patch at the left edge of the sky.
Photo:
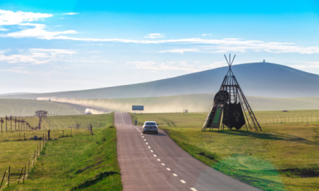
M 67 57 L 71 57 L 73 50 L 60 49 L 29 49 L 26 54 L 11 54 L 6 55 L 5 52 L 0 52 L 0 62 L 8 62 L 10 64 L 28 63 L 28 64 L 46 64 L 48 62 L 62 61 Z

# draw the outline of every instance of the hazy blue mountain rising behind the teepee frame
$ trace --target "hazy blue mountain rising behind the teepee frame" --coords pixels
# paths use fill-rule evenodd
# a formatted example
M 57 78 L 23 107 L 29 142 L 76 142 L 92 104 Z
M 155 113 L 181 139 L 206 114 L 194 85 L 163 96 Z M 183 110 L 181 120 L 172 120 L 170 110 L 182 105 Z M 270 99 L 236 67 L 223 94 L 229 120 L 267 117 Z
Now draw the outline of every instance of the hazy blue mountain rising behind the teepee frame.
M 271 98 L 319 96 L 319 76 L 289 66 L 272 63 L 250 63 L 232 66 L 237 81 L 247 96 Z M 127 86 L 84 91 L 16 95 L 13 98 L 142 98 L 177 96 L 192 93 L 216 93 L 228 66 Z M 1 98 L 1 96 L 0 96 Z

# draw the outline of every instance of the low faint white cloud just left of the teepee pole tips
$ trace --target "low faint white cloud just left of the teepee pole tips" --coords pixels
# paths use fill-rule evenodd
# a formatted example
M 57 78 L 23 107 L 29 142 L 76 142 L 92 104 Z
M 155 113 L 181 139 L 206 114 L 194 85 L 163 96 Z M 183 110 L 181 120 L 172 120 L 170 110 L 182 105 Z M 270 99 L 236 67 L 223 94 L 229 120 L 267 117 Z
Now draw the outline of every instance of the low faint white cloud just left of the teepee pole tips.
M 187 71 L 196 72 L 207 69 L 214 69 L 223 66 L 223 62 L 213 62 L 211 64 L 188 64 L 187 62 L 162 62 L 157 63 L 154 61 L 135 61 L 127 62 L 128 65 L 133 66 L 135 69 L 143 69 L 147 71 Z

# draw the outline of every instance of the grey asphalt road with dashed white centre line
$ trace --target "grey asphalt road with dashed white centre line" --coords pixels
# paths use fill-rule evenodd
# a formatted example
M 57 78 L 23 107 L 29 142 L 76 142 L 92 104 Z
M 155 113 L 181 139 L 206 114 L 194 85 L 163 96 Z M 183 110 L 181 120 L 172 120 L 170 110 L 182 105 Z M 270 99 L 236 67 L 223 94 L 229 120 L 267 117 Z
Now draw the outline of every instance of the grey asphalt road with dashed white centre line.
M 115 113 L 124 191 L 259 190 L 193 158 L 159 129 L 142 134 L 126 112 Z

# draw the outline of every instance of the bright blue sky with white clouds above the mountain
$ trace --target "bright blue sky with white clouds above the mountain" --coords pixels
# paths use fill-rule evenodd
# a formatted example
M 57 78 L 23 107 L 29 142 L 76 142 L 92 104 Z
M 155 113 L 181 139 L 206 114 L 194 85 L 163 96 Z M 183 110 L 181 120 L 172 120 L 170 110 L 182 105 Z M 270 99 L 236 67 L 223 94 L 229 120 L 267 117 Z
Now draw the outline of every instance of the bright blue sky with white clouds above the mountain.
M 272 62 L 319 74 L 319 1 L 0 1 L 0 93 Z

